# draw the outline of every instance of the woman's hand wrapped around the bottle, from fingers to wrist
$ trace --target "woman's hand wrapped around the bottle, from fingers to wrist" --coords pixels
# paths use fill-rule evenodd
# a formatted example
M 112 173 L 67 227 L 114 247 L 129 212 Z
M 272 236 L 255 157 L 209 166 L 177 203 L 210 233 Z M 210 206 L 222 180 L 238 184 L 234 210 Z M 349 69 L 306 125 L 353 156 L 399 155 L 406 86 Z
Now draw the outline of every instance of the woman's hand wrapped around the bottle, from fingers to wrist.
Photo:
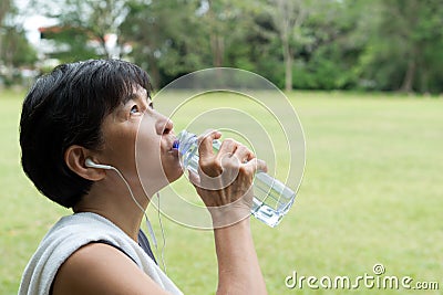
M 198 138 L 198 176 L 189 175 L 212 214 L 214 228 L 231 225 L 249 217 L 254 175 L 257 170 L 267 170 L 262 160 L 234 139 L 224 140 L 218 154 L 214 154 L 213 140 L 220 136 L 218 131 L 210 131 Z

